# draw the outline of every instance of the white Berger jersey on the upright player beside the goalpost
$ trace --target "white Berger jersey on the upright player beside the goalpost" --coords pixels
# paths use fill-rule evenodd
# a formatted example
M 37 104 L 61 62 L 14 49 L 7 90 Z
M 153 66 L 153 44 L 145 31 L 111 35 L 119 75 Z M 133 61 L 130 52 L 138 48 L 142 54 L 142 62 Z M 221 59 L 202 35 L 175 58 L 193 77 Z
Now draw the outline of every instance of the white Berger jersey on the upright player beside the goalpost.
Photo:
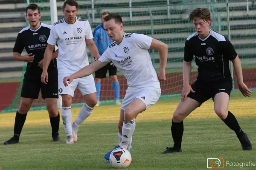
M 92 38 L 90 23 L 83 18 L 76 17 L 73 24 L 64 18 L 53 24 L 47 43 L 58 45 L 58 73 L 73 74 L 89 65 L 86 39 Z

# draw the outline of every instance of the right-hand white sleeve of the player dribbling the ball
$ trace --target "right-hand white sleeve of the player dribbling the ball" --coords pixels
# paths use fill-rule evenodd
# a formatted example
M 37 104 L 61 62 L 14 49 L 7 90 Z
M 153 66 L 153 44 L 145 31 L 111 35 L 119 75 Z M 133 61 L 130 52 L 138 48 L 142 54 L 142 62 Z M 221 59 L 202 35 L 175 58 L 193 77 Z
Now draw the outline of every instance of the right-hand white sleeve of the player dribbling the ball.
M 153 40 L 152 37 L 148 37 L 144 34 L 132 34 L 131 35 L 131 40 L 135 46 L 138 48 L 143 48 L 143 49 L 149 49 L 151 42 Z

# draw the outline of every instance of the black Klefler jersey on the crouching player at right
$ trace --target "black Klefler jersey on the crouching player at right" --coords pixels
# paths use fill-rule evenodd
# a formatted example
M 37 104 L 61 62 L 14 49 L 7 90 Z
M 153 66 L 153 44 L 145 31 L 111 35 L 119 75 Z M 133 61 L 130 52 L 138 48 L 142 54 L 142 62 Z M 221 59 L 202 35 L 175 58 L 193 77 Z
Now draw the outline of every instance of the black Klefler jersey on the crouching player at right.
M 190 35 L 185 43 L 184 61 L 192 61 L 193 56 L 198 65 L 199 82 L 232 81 L 229 61 L 235 59 L 237 54 L 223 35 L 212 30 L 204 39 L 198 33 Z

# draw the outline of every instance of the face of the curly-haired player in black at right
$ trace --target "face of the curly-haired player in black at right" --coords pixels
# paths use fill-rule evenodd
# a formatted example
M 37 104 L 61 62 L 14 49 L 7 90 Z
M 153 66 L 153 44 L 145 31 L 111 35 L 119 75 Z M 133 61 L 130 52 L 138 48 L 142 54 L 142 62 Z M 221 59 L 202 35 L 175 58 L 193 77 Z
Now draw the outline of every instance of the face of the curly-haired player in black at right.
M 209 25 L 211 24 L 211 21 L 205 21 L 199 17 L 195 17 L 193 19 L 193 24 L 195 26 L 195 30 L 198 32 L 200 37 L 207 37 L 209 34 L 210 28 Z

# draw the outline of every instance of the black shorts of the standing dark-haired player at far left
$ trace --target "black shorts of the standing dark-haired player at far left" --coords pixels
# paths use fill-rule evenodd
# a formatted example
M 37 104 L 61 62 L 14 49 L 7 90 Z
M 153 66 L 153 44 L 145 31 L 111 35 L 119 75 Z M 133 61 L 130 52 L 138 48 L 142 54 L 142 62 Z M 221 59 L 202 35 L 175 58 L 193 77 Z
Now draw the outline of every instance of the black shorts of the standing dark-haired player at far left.
M 27 70 L 21 89 L 21 97 L 38 99 L 41 89 L 42 98 L 58 98 L 58 71 L 48 71 L 48 82 L 45 85 L 41 82 L 42 71 Z

